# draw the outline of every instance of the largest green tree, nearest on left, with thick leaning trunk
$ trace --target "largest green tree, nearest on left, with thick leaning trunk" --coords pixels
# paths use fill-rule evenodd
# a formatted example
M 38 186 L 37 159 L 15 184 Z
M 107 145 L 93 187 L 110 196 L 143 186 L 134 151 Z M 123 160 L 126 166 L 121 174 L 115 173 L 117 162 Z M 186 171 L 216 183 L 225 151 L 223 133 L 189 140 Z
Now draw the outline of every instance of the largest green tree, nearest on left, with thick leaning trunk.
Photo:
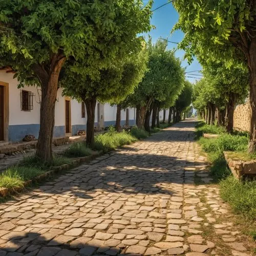
M 0 65 L 13 68 L 20 86 L 41 86 L 37 157 L 52 160 L 55 101 L 65 61 L 86 58 L 94 67 L 108 66 L 127 45 L 136 47 L 137 33 L 148 30 L 151 4 L 142 9 L 139 0 L 0 1 Z

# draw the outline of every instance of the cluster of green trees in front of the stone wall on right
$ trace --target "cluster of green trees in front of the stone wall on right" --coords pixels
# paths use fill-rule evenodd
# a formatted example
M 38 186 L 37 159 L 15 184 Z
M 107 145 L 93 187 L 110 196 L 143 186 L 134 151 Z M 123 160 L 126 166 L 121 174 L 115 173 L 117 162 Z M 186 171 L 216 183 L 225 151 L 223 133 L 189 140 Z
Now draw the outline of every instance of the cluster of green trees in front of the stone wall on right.
M 239 62 L 226 69 L 224 63 L 209 60 L 204 62 L 203 74 L 204 78 L 195 84 L 193 104 L 208 124 L 214 123 L 217 109 L 217 124 L 231 133 L 234 106 L 248 96 L 247 69 Z

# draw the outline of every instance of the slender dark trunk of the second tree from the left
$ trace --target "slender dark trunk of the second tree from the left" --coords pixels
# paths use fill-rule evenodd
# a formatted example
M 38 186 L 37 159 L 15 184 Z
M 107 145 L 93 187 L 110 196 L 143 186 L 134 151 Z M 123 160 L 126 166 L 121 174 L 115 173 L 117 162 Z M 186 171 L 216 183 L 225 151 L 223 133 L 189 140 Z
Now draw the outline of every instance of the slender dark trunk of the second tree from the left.
M 92 147 L 94 144 L 94 119 L 95 119 L 95 106 L 96 99 L 83 100 L 86 104 L 87 111 L 87 127 L 86 127 L 86 145 Z

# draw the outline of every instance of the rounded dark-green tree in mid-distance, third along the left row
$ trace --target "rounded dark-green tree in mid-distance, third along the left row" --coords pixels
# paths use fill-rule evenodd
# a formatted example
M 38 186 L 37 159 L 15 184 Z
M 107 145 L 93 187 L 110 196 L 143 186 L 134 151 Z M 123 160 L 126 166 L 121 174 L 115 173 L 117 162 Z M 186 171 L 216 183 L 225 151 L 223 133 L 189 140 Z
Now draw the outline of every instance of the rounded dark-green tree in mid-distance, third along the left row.
M 135 89 L 127 98 L 130 106 L 136 107 L 136 123 L 141 129 L 150 131 L 150 116 L 153 102 L 165 101 L 178 94 L 183 86 L 184 70 L 174 51 L 167 51 L 165 41 L 158 40 L 155 45 L 148 41 L 147 71 Z

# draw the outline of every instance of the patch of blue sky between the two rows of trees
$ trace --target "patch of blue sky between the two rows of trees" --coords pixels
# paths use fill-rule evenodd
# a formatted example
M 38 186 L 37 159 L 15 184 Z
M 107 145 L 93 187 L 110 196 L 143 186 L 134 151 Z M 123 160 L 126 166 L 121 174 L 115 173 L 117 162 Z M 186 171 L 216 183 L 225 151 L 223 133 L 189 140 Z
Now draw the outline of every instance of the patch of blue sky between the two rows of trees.
M 143 0 L 143 3 L 146 4 L 148 1 Z M 167 3 L 168 0 L 155 0 L 152 10 L 156 9 L 157 7 Z M 178 21 L 179 14 L 174 9 L 172 4 L 168 4 L 163 6 L 162 8 L 153 12 L 151 24 L 154 25 L 156 28 L 152 29 L 152 31 L 148 34 L 151 35 L 152 41 L 156 42 L 159 37 L 168 38 L 170 41 L 180 42 L 183 38 L 182 31 L 175 31 L 172 35 L 170 35 L 170 31 L 172 30 L 173 26 Z M 177 45 L 168 43 L 168 49 L 174 49 Z M 201 66 L 198 61 L 195 59 L 191 65 L 188 65 L 186 60 L 184 59 L 184 51 L 177 50 L 176 56 L 182 60 L 182 66 L 186 67 L 187 71 L 194 71 L 194 70 L 201 70 Z M 199 72 L 193 72 L 191 74 L 200 74 Z M 187 74 L 189 76 L 189 73 Z M 190 75 L 191 76 L 191 75 Z M 198 76 L 200 77 L 200 76 Z M 187 80 L 190 82 L 194 82 L 195 78 L 187 77 Z

